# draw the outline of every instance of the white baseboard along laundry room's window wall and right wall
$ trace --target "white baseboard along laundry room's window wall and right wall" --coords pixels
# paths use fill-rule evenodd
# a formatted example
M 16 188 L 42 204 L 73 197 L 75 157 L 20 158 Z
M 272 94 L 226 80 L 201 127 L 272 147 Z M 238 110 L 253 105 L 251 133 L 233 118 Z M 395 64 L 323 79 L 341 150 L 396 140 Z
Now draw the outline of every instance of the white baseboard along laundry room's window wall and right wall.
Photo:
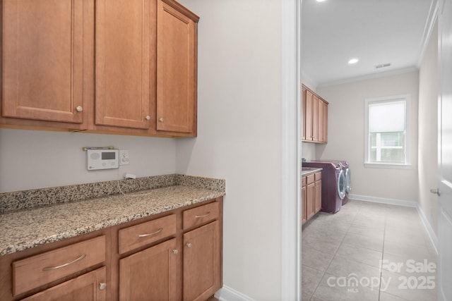
M 416 208 L 417 214 L 419 214 L 422 224 L 424 224 L 424 228 L 429 234 L 430 241 L 432 241 L 432 245 L 435 248 L 436 254 L 438 254 L 438 238 L 436 237 L 436 233 L 433 230 L 432 225 L 430 225 L 427 216 L 425 216 L 424 211 L 422 211 L 418 202 L 407 201 L 405 199 L 386 199 L 383 197 L 368 197 L 367 195 L 348 195 L 348 198 L 364 202 L 383 203 Z

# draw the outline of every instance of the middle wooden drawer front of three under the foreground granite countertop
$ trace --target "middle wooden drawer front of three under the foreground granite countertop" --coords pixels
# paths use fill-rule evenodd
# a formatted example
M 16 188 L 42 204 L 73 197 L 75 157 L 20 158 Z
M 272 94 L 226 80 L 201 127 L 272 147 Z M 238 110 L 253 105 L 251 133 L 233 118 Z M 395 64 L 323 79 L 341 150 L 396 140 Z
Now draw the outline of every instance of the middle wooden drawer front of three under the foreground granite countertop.
M 119 254 L 176 234 L 176 214 L 119 230 Z

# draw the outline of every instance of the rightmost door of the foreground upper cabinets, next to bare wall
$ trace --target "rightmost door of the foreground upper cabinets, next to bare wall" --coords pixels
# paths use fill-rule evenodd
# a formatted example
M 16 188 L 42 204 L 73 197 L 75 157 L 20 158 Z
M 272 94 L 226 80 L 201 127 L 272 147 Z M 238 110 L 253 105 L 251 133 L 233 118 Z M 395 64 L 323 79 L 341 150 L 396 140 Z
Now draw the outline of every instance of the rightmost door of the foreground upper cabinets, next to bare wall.
M 196 23 L 171 0 L 157 1 L 156 130 L 196 135 Z

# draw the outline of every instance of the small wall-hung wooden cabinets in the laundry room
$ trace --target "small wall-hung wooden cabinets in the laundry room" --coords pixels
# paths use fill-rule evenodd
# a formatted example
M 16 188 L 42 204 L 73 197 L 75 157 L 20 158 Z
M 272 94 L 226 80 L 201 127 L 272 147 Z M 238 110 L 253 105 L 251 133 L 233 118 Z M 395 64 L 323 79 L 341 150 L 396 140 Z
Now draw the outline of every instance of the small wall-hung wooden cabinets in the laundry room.
M 302 141 L 328 142 L 328 102 L 302 85 Z

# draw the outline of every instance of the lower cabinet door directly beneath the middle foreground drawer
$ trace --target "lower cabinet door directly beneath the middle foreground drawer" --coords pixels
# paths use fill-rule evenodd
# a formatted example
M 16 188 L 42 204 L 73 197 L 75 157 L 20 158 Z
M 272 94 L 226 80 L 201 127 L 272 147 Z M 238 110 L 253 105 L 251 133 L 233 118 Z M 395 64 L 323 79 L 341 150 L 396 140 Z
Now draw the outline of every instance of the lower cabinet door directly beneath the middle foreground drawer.
M 119 300 L 179 300 L 176 239 L 119 260 Z

